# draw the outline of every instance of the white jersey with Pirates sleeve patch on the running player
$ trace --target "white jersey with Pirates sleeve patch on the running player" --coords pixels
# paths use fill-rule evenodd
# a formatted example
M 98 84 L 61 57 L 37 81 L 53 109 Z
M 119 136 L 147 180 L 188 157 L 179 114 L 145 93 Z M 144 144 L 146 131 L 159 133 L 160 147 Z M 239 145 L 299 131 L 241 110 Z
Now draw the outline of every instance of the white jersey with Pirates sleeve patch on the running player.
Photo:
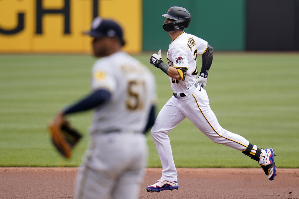
M 183 92 L 195 83 L 198 74 L 196 67 L 197 54 L 202 55 L 205 53 L 207 47 L 208 42 L 185 32 L 169 44 L 167 52 L 168 66 L 187 69 L 185 81 L 178 81 L 169 77 L 174 92 Z

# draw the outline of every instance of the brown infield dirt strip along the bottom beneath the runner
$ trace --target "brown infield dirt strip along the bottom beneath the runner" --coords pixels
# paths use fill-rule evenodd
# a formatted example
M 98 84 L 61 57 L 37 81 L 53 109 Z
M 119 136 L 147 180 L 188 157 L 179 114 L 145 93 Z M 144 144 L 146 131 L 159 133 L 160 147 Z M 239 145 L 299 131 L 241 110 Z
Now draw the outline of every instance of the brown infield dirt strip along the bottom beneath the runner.
M 161 168 L 146 169 L 139 198 L 299 199 L 299 169 L 279 169 L 269 181 L 258 168 L 178 168 L 179 189 L 147 192 Z M 78 168 L 0 167 L 1 199 L 69 199 Z

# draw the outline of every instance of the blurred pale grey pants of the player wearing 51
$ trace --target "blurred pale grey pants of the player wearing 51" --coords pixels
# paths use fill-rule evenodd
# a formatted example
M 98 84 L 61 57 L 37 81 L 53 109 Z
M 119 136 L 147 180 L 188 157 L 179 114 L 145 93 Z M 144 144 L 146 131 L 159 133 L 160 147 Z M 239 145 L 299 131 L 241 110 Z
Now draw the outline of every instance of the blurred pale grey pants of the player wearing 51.
M 137 199 L 147 160 L 143 134 L 93 136 L 77 176 L 76 199 Z

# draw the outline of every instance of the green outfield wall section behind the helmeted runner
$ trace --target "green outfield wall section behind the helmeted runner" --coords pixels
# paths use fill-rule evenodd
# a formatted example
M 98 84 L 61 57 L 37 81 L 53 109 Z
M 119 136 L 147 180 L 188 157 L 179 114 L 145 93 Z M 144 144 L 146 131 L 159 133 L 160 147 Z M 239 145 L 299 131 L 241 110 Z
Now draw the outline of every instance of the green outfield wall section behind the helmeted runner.
M 245 49 L 245 0 L 143 0 L 143 50 L 167 50 L 171 42 L 160 16 L 169 7 L 186 8 L 192 20 L 185 32 L 206 40 L 214 50 Z

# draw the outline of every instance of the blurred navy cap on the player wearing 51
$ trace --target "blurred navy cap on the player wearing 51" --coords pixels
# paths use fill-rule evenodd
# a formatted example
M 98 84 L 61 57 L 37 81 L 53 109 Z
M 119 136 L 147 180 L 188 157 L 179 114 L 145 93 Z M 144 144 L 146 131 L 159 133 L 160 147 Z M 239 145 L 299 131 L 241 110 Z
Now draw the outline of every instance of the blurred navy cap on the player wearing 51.
M 84 32 L 84 34 L 95 38 L 118 37 L 121 41 L 121 46 L 125 45 L 121 26 L 115 21 L 102 19 L 100 16 L 94 18 L 90 31 Z

